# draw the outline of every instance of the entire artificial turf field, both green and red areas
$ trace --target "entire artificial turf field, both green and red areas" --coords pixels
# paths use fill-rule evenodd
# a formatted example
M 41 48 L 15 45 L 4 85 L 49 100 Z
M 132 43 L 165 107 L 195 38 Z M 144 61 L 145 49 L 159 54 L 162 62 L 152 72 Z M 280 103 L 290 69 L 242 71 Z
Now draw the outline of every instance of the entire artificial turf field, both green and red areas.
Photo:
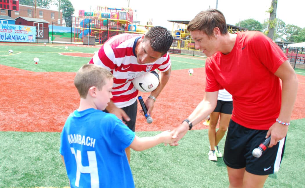
M 65 49 L 68 46 L 68 49 Z M 9 55 L 8 50 L 14 52 Z M 99 47 L 61 44 L 0 43 L 0 187 L 66 187 L 68 179 L 59 156 L 60 131 L 78 107 L 73 85 L 75 72 Z M 39 64 L 33 59 L 38 57 Z M 154 122 L 137 117 L 138 136 L 152 136 L 178 126 L 202 100 L 205 84 L 204 57 L 171 54 L 172 75 L 156 101 Z M 193 76 L 188 69 L 194 69 Z M 296 70 L 299 89 L 289 127 L 281 169 L 265 187 L 305 187 L 305 71 Z M 139 93 L 145 99 L 148 94 Z M 302 119 L 303 118 L 303 119 Z M 189 131 L 178 147 L 131 152 L 136 187 L 228 187 L 222 158 L 207 158 L 207 126 L 202 122 Z M 220 142 L 223 151 L 224 139 Z

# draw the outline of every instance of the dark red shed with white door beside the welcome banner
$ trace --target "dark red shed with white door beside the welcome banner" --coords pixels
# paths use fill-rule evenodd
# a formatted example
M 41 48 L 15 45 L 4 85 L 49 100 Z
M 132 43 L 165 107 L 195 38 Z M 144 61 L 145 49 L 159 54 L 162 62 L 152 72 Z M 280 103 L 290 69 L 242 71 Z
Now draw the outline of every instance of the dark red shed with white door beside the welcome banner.
M 16 25 L 36 26 L 36 35 L 38 42 L 48 42 L 49 38 L 49 22 L 40 18 L 18 17 Z

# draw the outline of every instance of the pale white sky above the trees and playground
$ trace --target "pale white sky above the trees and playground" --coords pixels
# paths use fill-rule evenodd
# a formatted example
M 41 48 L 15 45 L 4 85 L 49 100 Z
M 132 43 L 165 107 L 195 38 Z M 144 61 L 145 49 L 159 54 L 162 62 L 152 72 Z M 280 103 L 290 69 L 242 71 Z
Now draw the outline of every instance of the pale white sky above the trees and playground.
M 88 3 L 81 3 L 84 1 L 70 0 L 75 9 L 74 16 L 78 15 L 78 10 L 85 12 L 93 12 L 97 10 L 97 6 L 108 8 L 128 8 L 137 10 L 134 12 L 134 19 L 140 21 L 141 25 L 145 25 L 149 19 L 152 19 L 153 26 L 164 26 L 168 30 L 176 30 L 178 24 L 168 22 L 167 20 L 184 20 L 189 21 L 193 19 L 197 13 L 209 8 L 216 8 L 217 0 L 87 0 Z M 234 3 L 233 3 L 234 2 Z M 227 24 L 235 25 L 241 20 L 255 19 L 263 23 L 268 19 L 270 14 L 266 11 L 271 6 L 271 0 L 218 0 L 217 9 L 220 10 L 225 18 Z M 286 24 L 293 24 L 301 28 L 305 27 L 303 13 L 305 1 L 300 0 L 278 0 L 277 18 L 282 19 Z

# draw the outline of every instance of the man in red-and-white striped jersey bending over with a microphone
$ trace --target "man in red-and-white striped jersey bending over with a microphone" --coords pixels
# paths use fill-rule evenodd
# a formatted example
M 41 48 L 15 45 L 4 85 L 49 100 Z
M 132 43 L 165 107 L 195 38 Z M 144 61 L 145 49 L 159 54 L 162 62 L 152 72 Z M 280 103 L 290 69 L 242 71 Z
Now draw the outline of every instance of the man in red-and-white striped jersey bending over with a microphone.
M 172 43 L 170 31 L 161 26 L 152 27 L 144 35 L 119 34 L 109 38 L 89 62 L 100 65 L 113 74 L 113 98 L 106 111 L 126 122 L 132 131 L 135 131 L 138 106 L 138 90 L 132 80 L 144 72 L 155 69 L 160 71 L 160 84 L 145 101 L 147 113 L 150 114 L 156 98 L 170 78 L 168 50 Z M 126 149 L 126 154 L 130 162 L 130 148 Z

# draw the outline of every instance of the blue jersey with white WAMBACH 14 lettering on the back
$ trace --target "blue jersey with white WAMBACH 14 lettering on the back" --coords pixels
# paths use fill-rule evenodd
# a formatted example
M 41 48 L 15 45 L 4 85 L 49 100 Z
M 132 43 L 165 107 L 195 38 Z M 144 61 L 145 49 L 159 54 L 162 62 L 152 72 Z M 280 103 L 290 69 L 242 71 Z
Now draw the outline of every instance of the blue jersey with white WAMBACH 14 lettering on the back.
M 135 187 L 125 153 L 134 138 L 113 114 L 93 108 L 71 113 L 59 149 L 71 187 Z

